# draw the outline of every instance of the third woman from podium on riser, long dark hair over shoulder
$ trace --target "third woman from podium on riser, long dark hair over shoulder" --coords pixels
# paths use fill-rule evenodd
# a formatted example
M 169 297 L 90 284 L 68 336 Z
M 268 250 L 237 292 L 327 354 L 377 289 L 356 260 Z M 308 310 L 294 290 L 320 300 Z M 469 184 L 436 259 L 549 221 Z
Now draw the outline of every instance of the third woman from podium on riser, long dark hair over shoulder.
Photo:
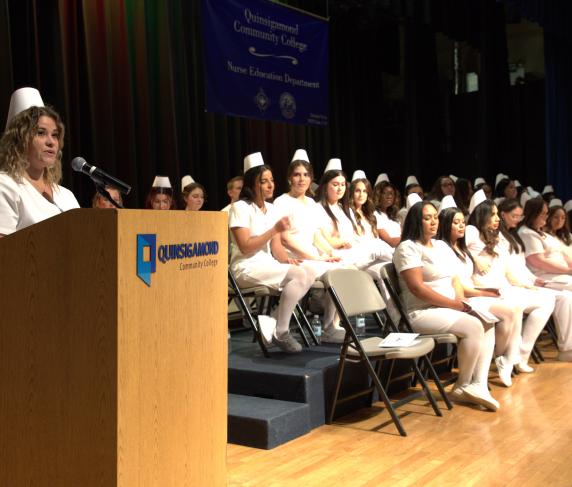
M 343 264 L 354 265 L 358 269 L 391 260 L 389 246 L 360 241 L 349 207 L 343 171 L 324 173 L 318 187 L 318 203 L 318 225 L 323 238 L 317 240 L 316 245 L 320 250 L 327 255 L 338 256 Z

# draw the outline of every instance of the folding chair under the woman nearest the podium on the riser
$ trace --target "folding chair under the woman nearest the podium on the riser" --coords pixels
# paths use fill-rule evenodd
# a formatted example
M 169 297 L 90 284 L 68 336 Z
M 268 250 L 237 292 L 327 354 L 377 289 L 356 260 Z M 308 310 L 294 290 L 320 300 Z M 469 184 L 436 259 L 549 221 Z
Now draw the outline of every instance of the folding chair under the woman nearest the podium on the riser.
M 272 300 L 276 300 L 280 297 L 280 291 L 266 287 L 266 286 L 253 286 L 248 288 L 241 288 L 236 281 L 230 268 L 228 269 L 228 299 L 229 302 L 234 300 L 239 309 L 241 310 L 243 316 L 246 318 L 250 328 L 252 329 L 253 338 L 265 357 L 269 357 L 268 347 L 266 346 L 264 337 L 262 336 L 262 331 L 260 329 L 260 322 L 258 321 L 258 315 L 263 314 L 265 311 L 270 312 L 272 305 Z M 256 298 L 258 300 L 257 312 L 248 304 L 246 298 Z M 314 345 L 318 344 L 318 339 L 310 326 L 310 322 L 306 318 L 306 315 L 302 311 L 299 304 L 296 305 L 296 309 L 293 313 L 294 322 L 302 341 L 306 347 L 310 346 L 310 342 L 306 333 L 310 336 L 310 339 L 314 342 Z

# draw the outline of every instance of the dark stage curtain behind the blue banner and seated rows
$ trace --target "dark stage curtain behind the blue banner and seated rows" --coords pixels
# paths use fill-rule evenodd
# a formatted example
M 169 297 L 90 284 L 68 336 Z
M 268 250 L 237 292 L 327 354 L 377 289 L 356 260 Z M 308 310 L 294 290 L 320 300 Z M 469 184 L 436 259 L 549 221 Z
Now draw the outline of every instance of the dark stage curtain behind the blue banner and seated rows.
M 325 13 L 318 0 L 289 3 Z M 206 186 L 206 208 L 221 208 L 226 181 L 254 151 L 274 167 L 279 194 L 300 147 L 317 176 L 327 159 L 340 157 L 350 175 L 364 169 L 374 180 L 387 172 L 399 186 L 411 173 L 426 187 L 449 172 L 491 179 L 503 171 L 525 179 L 522 168 L 538 153 L 531 144 L 544 143 L 543 127 L 523 128 L 515 118 L 538 109 L 528 87 L 520 96 L 507 85 L 502 4 L 352 0 L 330 6 L 327 128 L 205 113 L 200 2 L 185 0 L 0 0 L 0 114 L 21 86 L 37 87 L 62 114 L 64 184 L 82 205 L 93 187 L 71 174 L 69 161 L 77 155 L 133 185 L 128 207 L 143 205 L 155 174 L 168 175 L 178 189 L 188 173 Z M 438 80 L 435 31 L 481 49 L 477 102 L 452 96 Z M 404 74 L 403 99 L 384 97 L 381 72 Z M 531 136 L 536 128 L 540 135 Z

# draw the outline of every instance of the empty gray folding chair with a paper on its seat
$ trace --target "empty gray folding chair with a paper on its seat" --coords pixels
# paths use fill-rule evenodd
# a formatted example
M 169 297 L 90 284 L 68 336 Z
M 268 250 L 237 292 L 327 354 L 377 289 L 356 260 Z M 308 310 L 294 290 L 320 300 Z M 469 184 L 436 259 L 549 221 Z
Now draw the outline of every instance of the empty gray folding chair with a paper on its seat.
M 369 395 L 371 400 L 374 390 L 377 390 L 377 393 L 385 404 L 393 423 L 402 436 L 406 436 L 407 433 L 405 432 L 405 429 L 403 428 L 403 425 L 395 411 L 396 407 L 400 407 L 403 404 L 411 402 L 413 399 L 424 395 L 431 404 L 435 414 L 437 416 L 442 416 L 441 410 L 437 406 L 437 402 L 429 390 L 427 382 L 419 371 L 419 367 L 417 365 L 417 360 L 422 360 L 430 367 L 431 364 L 427 358 L 427 354 L 433 350 L 433 339 L 422 338 L 415 345 L 399 348 L 380 348 L 378 346 L 382 340 L 380 337 L 371 337 L 360 341 L 350 323 L 350 317 L 358 314 L 373 315 L 378 326 L 383 330 L 385 329 L 385 324 L 380 316 L 380 313 L 383 313 L 386 319 L 385 323 L 389 324 L 390 331 L 396 331 L 391 318 L 386 313 L 385 303 L 377 290 L 373 278 L 364 271 L 335 269 L 328 271 L 322 280 L 328 292 L 332 296 L 336 309 L 340 314 L 340 323 L 346 331 L 344 343 L 340 350 L 340 361 L 338 365 L 334 396 L 332 398 L 332 405 L 328 416 L 328 423 L 332 422 L 337 405 L 366 395 Z M 392 403 L 380 379 L 381 364 L 388 360 L 408 360 L 413 368 L 413 376 L 417 379 L 419 384 L 421 384 L 422 390 L 415 391 L 413 394 Z M 348 361 L 360 362 L 364 365 L 371 380 L 371 385 L 362 391 L 340 398 L 339 395 L 344 367 Z M 372 362 L 375 362 L 375 367 Z M 430 367 L 430 370 L 439 392 L 443 396 L 444 400 L 448 402 L 447 396 L 443 390 L 443 386 L 439 382 L 437 374 L 432 367 Z M 390 380 L 391 377 L 388 378 L 388 383 Z

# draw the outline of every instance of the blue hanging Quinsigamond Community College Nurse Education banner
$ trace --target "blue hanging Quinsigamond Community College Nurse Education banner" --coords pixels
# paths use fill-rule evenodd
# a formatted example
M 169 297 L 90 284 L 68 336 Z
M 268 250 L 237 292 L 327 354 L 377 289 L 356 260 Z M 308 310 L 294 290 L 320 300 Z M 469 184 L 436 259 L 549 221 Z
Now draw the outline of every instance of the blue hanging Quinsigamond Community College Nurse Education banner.
M 328 124 L 328 23 L 266 0 L 203 0 L 206 109 Z

